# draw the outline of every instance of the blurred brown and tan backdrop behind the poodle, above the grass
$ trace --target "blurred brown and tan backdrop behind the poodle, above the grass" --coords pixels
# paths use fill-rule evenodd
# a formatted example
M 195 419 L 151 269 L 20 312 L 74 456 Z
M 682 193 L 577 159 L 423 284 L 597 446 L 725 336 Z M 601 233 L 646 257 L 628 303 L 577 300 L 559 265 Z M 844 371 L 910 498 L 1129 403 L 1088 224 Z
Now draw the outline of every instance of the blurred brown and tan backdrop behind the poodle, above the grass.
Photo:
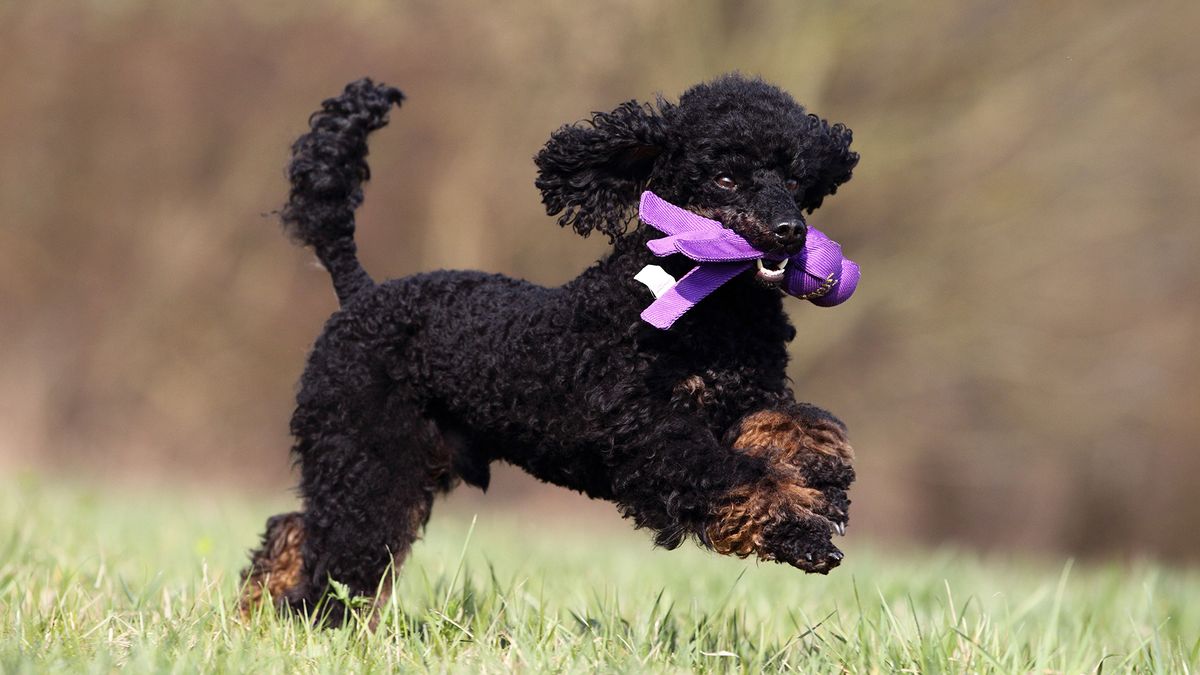
M 859 291 L 790 304 L 797 393 L 859 452 L 852 537 L 1196 560 L 1198 25 L 1188 1 L 0 1 L 0 471 L 287 492 L 335 299 L 271 211 L 346 82 L 409 96 L 372 139 L 377 279 L 551 285 L 606 246 L 541 210 L 550 132 L 740 70 L 862 154 L 812 216 Z M 514 471 L 450 502 L 620 526 Z

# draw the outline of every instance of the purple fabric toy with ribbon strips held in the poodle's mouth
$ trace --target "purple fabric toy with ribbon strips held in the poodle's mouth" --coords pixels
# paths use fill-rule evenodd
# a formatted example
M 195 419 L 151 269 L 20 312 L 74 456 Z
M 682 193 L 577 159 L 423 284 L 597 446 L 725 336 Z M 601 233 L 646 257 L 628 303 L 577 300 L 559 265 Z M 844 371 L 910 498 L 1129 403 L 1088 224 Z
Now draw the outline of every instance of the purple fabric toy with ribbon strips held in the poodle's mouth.
M 787 294 L 822 307 L 846 301 L 858 287 L 858 265 L 841 255 L 836 241 L 815 227 L 809 227 L 804 250 L 785 258 L 763 253 L 715 220 L 682 209 L 648 190 L 642 192 L 638 215 L 667 235 L 647 241 L 655 256 L 682 253 L 700 263 L 642 311 L 642 318 L 655 328 L 671 328 L 696 303 L 755 267 L 756 261 L 758 279 L 779 283 Z M 764 269 L 763 259 L 779 267 Z

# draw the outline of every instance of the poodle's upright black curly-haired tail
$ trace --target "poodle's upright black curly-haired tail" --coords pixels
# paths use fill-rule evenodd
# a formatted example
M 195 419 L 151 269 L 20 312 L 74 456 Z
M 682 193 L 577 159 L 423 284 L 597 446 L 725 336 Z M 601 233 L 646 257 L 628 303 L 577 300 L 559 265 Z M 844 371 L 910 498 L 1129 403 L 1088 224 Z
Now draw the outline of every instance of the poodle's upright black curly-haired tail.
M 281 211 L 283 229 L 317 252 L 342 305 L 374 286 L 354 245 L 354 209 L 362 203 L 362 184 L 371 178 L 367 135 L 386 126 L 391 107 L 403 100 L 398 89 L 368 78 L 352 82 L 341 96 L 322 102 L 308 118 L 312 131 L 292 145 L 292 191 Z

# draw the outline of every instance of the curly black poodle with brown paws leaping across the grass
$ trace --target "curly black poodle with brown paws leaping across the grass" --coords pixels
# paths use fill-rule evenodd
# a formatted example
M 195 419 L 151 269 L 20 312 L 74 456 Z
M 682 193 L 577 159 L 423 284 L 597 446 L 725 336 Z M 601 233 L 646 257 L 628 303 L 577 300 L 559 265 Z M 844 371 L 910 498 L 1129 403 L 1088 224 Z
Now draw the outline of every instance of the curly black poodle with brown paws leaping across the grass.
M 355 257 L 367 135 L 402 94 L 361 79 L 325 101 L 293 147 L 286 229 L 311 246 L 341 309 L 300 383 L 292 434 L 304 510 L 271 518 L 244 572 L 242 608 L 264 593 L 311 611 L 330 581 L 386 597 L 433 498 L 487 488 L 494 460 L 608 500 L 672 549 L 826 573 L 841 551 L 854 478 L 846 429 L 796 402 L 785 372 L 796 329 L 778 288 L 752 271 L 671 327 L 640 318 L 655 258 L 638 196 L 734 231 L 762 251 L 804 246 L 805 213 L 850 180 L 851 132 L 782 90 L 739 74 L 678 103 L 630 101 L 564 126 L 534 161 L 559 225 L 599 231 L 612 253 L 558 288 L 481 271 L 376 283 Z

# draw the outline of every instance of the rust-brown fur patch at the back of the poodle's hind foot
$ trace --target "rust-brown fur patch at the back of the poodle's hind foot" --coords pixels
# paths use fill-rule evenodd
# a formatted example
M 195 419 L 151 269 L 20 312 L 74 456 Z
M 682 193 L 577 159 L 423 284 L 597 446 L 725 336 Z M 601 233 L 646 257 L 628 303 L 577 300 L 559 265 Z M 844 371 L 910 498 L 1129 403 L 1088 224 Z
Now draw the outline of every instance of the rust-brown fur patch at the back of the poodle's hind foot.
M 281 604 L 287 599 L 288 591 L 305 584 L 300 550 L 304 537 L 304 516 L 300 513 L 284 513 L 266 521 L 263 544 L 251 554 L 250 567 L 241 573 L 239 608 L 242 616 L 250 616 L 263 602 L 263 596 Z

